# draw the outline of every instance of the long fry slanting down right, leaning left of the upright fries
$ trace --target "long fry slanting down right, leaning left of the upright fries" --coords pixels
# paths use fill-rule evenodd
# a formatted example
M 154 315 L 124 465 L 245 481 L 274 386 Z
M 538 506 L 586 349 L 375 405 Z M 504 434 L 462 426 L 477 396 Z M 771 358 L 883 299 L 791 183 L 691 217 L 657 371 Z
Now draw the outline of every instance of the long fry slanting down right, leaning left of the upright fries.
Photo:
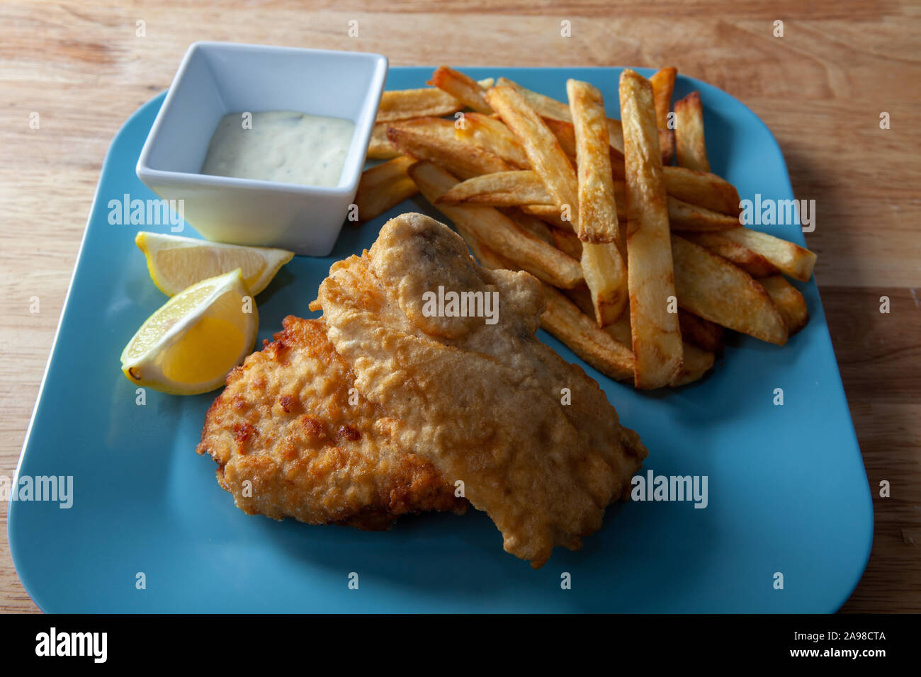
M 548 193 L 554 198 L 554 204 L 563 210 L 565 216 L 570 217 L 571 228 L 577 230 L 576 172 L 554 133 L 515 88 L 491 88 L 486 92 L 486 101 L 502 117 L 508 129 L 518 137 L 525 153 L 528 154 L 531 167 L 541 177 Z

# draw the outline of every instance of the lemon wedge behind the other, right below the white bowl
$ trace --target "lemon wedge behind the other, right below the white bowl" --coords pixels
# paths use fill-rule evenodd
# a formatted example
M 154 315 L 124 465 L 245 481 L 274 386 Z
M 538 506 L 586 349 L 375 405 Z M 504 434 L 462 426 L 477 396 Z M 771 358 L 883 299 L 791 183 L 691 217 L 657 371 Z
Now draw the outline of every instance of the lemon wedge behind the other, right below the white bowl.
M 243 272 L 243 282 L 252 296 L 256 296 L 294 256 L 293 251 L 241 247 L 144 230 L 135 236 L 134 243 L 146 256 L 154 284 L 170 297 L 196 282 L 235 268 Z

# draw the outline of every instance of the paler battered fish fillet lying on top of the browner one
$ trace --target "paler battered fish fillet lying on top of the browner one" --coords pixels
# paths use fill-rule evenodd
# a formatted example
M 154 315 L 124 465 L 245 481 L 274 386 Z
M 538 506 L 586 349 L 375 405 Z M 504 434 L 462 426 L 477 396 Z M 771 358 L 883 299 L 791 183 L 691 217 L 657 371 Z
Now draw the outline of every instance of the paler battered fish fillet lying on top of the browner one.
M 432 314 L 438 286 L 468 294 L 462 314 Z M 490 324 L 475 304 L 494 292 Z M 318 307 L 395 442 L 462 480 L 508 553 L 537 568 L 555 545 L 577 550 L 629 495 L 647 449 L 585 371 L 537 340 L 544 302 L 530 274 L 481 268 L 448 227 L 404 214 L 370 251 L 333 264 Z

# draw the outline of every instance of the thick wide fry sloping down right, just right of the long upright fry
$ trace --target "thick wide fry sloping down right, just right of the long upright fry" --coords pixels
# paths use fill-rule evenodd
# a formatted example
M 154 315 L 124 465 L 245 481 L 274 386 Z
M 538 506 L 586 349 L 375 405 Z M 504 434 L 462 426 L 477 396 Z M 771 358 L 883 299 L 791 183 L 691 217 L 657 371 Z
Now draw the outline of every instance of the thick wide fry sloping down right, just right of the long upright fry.
M 752 276 L 704 247 L 671 236 L 678 305 L 771 344 L 787 343 L 787 323 Z

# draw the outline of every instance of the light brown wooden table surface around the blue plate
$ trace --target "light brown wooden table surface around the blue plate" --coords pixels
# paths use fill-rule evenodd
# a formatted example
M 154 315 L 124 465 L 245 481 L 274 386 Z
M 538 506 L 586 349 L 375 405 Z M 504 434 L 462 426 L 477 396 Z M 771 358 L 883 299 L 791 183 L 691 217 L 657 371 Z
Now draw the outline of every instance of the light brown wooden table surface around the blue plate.
M 393 65 L 675 65 L 774 132 L 798 198 L 873 490 L 876 535 L 848 612 L 921 611 L 921 33 L 915 3 L 242 0 L 0 4 L 0 474 L 12 477 L 113 134 L 189 43 L 387 54 Z M 358 36 L 349 37 L 357 20 Z M 775 37 L 775 20 L 784 22 Z M 143 21 L 145 35 L 138 36 Z M 561 36 L 569 21 L 571 37 Z M 29 127 L 29 114 L 40 128 Z M 880 129 L 880 113 L 891 128 Z M 892 311 L 880 313 L 880 297 Z M 29 299 L 40 298 L 40 312 Z M 66 438 L 66 431 L 61 431 Z M 804 453 L 808 453 L 804 451 Z M 880 498 L 881 480 L 892 497 Z M 809 487 L 803 487 L 808 491 Z M 0 525 L 0 609 L 34 611 Z

